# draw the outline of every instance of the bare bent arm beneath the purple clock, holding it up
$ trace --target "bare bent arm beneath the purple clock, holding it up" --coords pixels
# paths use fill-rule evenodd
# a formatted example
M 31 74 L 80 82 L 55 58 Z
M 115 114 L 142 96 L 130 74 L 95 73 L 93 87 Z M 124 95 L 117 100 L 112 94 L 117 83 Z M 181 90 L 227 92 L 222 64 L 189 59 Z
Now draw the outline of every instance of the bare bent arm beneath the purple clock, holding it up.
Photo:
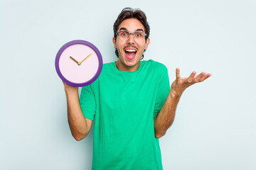
M 70 86 L 65 84 L 65 82 L 63 84 L 68 103 L 68 124 L 73 137 L 79 141 L 88 135 L 92 126 L 92 120 L 85 118 L 82 114 L 78 87 Z

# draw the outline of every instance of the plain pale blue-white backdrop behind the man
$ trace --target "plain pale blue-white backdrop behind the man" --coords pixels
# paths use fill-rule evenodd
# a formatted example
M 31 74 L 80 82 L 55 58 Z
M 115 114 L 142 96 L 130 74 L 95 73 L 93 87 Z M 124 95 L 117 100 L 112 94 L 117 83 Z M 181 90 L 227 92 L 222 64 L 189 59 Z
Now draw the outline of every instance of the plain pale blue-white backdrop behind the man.
M 160 146 L 164 169 L 256 169 L 256 1 L 0 0 L 0 169 L 91 169 L 92 137 L 70 134 L 55 55 L 92 42 L 114 62 L 112 26 L 122 8 L 151 26 L 144 60 L 181 77 L 212 77 L 183 93 Z

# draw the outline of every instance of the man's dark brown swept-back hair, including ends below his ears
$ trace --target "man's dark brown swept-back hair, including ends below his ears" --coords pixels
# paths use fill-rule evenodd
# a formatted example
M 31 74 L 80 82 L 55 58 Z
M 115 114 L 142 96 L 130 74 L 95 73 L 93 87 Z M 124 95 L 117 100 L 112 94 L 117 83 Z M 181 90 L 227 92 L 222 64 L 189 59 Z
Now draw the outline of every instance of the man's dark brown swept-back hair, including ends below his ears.
M 119 16 L 117 17 L 117 20 L 114 22 L 114 39 L 117 39 L 117 30 L 118 27 L 120 25 L 120 23 L 122 23 L 122 21 L 129 19 L 129 18 L 136 18 L 137 20 L 139 20 L 144 28 L 145 28 L 145 39 L 149 38 L 149 23 L 146 21 L 146 14 L 141 11 L 139 8 L 123 8 L 123 10 L 121 11 L 121 13 L 119 13 Z M 115 50 L 115 55 L 117 55 L 117 57 L 119 57 L 118 55 L 118 51 L 117 49 Z M 142 55 L 142 58 L 144 57 L 144 55 Z

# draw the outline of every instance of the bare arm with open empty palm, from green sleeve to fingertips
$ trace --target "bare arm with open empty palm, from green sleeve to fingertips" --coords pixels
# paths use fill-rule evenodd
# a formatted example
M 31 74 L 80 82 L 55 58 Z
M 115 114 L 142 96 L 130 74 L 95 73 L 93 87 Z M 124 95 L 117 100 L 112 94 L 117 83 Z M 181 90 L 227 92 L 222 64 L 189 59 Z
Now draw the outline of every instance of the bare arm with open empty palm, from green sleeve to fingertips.
M 174 122 L 176 107 L 183 91 L 185 91 L 188 86 L 202 82 L 210 76 L 211 74 L 206 74 L 205 72 L 201 72 L 201 74 L 196 76 L 196 72 L 192 72 L 189 77 L 181 78 L 180 70 L 178 68 L 176 69 L 176 80 L 171 84 L 171 90 L 166 98 L 164 106 L 161 108 L 159 114 L 154 118 L 154 131 L 156 138 L 164 136 L 166 130 Z

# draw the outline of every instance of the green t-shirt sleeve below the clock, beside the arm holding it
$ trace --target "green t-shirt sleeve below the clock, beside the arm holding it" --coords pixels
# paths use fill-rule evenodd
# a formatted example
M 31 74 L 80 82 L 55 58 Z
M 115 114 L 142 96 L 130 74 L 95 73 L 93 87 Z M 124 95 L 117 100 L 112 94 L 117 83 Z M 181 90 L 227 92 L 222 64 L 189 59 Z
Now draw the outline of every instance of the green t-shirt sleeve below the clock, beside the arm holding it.
M 95 94 L 92 91 L 92 86 L 82 87 L 80 94 L 80 106 L 85 118 L 93 120 L 96 112 Z

